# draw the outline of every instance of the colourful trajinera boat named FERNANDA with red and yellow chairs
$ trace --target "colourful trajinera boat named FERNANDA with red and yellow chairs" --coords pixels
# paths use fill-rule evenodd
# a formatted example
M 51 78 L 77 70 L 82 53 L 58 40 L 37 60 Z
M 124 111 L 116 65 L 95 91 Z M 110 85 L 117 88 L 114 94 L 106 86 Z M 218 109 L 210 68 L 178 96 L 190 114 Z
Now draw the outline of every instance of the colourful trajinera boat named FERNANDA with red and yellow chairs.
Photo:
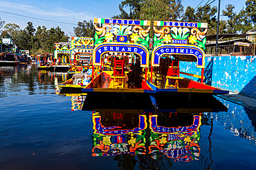
M 122 22 L 127 24 L 124 25 Z M 100 24 L 104 25 L 100 27 Z M 141 72 L 141 67 L 145 67 L 147 72 L 149 66 L 149 25 L 150 21 L 95 19 L 91 82 L 86 87 L 79 86 L 79 90 L 85 93 L 153 92 Z M 147 27 L 147 30 L 143 30 L 143 26 Z M 134 65 L 136 61 L 137 64 Z M 134 72 L 129 79 L 131 65 L 134 65 L 134 69 L 139 73 Z M 69 88 L 68 93 L 77 93 L 75 87 L 78 86 L 73 83 L 75 80 L 70 80 L 62 83 L 60 87 Z M 68 88 L 64 88 L 64 85 Z

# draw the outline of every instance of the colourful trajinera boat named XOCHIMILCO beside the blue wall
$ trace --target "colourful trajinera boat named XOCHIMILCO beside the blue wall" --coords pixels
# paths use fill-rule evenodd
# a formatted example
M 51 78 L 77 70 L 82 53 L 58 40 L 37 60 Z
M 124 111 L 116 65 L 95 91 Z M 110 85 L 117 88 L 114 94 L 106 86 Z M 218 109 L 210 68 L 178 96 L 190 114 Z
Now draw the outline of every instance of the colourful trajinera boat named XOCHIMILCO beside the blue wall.
M 158 103 L 170 101 L 166 98 L 190 101 L 212 94 L 228 94 L 228 91 L 203 83 L 207 30 L 207 23 L 154 21 L 154 50 L 147 83 L 154 89 Z M 186 62 L 196 62 L 195 67 L 201 68 L 201 75 L 181 72 L 180 65 Z M 189 71 L 188 68 L 185 70 Z M 180 74 L 200 78 L 201 83 Z

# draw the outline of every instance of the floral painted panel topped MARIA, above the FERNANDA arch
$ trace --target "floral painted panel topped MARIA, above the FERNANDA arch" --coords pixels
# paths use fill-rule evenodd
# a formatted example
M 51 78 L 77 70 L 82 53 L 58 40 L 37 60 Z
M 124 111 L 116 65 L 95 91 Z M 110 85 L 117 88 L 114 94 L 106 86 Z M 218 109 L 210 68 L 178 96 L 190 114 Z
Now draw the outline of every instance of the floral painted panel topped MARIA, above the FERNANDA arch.
M 140 43 L 149 47 L 150 21 L 94 19 L 95 46 L 104 42 Z

